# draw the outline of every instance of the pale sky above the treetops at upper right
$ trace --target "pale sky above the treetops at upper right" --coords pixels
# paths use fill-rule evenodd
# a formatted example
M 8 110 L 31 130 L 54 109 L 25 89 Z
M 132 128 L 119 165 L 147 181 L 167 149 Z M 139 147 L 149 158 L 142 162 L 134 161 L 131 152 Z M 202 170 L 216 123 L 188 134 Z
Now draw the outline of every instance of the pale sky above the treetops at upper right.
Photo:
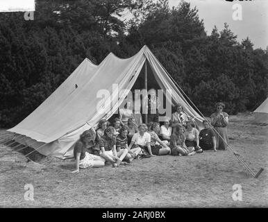
M 224 28 L 224 22 L 235 35 L 237 40 L 249 37 L 254 44 L 253 48 L 266 49 L 268 46 L 268 0 L 252 1 L 225 1 L 225 0 L 186 0 L 191 6 L 199 10 L 199 18 L 203 19 L 208 35 L 212 28 L 217 26 L 218 30 Z M 178 6 L 179 0 L 169 0 L 169 6 Z M 232 6 L 240 3 L 242 6 L 242 20 L 233 20 Z

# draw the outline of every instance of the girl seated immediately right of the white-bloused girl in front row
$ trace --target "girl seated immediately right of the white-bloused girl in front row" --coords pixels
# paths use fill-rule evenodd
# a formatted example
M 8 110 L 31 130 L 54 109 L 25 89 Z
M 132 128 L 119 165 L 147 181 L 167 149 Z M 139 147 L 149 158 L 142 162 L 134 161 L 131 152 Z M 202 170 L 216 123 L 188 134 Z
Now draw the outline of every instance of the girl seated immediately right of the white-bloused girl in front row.
M 149 127 L 149 135 L 151 136 L 151 151 L 155 155 L 167 155 L 171 153 L 170 148 L 167 146 L 167 141 L 162 142 L 159 137 L 158 133 L 160 132 L 159 123 L 150 123 Z

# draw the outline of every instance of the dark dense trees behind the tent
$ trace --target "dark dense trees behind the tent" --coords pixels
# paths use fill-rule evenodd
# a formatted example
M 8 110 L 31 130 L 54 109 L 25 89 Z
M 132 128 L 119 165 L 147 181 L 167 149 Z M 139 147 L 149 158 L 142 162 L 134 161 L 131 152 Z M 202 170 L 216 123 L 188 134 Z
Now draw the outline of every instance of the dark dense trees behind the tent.
M 37 0 L 35 10 L 33 21 L 0 15 L 1 127 L 27 117 L 84 58 L 128 58 L 144 44 L 203 114 L 217 101 L 236 114 L 267 97 L 268 48 L 237 42 L 227 24 L 208 35 L 185 1 L 169 8 L 167 0 Z

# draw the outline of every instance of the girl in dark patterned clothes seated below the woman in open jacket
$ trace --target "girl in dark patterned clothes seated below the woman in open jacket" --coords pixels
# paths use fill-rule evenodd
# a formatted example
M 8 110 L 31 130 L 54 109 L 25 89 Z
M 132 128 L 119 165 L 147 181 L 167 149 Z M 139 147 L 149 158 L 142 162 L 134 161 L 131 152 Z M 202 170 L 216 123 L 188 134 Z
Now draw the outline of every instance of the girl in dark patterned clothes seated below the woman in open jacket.
M 176 126 L 176 132 L 171 135 L 171 155 L 194 155 L 195 152 L 190 152 L 185 145 L 184 130 L 185 128 L 183 125 L 178 125 Z

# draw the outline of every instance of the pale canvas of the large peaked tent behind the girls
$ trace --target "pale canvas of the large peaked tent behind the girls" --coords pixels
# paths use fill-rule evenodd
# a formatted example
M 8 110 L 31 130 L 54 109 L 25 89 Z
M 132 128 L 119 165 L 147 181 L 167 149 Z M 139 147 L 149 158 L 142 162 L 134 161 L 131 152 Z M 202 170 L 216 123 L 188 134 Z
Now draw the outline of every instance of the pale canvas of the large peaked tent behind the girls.
M 26 119 L 8 131 L 24 137 L 17 142 L 35 148 L 42 155 L 59 158 L 73 156 L 73 148 L 83 131 L 96 126 L 100 119 L 109 119 L 135 84 L 144 62 L 150 67 L 161 89 L 172 90 L 171 103 L 181 103 L 185 112 L 201 123 L 203 118 L 187 103 L 164 67 L 147 46 L 131 58 L 118 58 L 110 53 L 99 65 L 87 58 L 75 71 Z M 119 96 L 113 91 L 118 85 Z M 108 99 L 100 99 L 97 93 L 106 89 Z M 107 105 L 111 103 L 112 105 Z M 97 104 L 103 108 L 98 112 Z

